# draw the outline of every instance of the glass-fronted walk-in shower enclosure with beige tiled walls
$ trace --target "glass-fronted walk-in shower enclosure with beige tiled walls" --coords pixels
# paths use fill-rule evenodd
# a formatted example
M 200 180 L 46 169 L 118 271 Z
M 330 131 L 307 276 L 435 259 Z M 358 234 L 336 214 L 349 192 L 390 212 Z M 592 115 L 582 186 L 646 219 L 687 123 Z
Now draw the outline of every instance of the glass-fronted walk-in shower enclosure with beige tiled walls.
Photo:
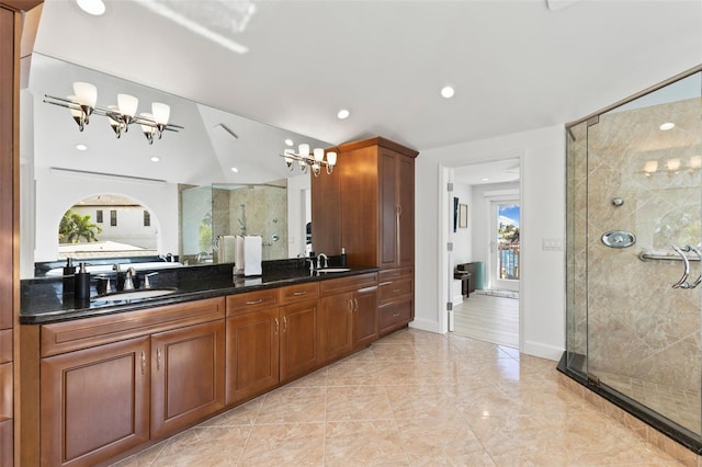
M 567 127 L 562 369 L 702 447 L 702 67 Z

